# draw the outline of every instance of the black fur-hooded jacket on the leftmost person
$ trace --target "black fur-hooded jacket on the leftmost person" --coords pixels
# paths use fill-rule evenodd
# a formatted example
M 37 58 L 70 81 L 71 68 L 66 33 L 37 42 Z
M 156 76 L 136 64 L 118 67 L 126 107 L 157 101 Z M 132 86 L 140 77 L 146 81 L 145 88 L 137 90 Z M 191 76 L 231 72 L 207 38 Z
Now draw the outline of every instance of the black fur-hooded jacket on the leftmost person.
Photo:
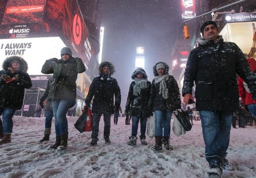
M 14 60 L 20 63 L 20 70 L 12 73 L 8 67 Z M 27 62 L 19 56 L 7 57 L 3 62 L 3 70 L 0 71 L 0 107 L 21 109 L 24 99 L 24 89 L 31 88 L 32 82 L 27 74 Z M 17 80 L 6 83 L 1 76 L 6 75 L 10 78 L 18 76 Z

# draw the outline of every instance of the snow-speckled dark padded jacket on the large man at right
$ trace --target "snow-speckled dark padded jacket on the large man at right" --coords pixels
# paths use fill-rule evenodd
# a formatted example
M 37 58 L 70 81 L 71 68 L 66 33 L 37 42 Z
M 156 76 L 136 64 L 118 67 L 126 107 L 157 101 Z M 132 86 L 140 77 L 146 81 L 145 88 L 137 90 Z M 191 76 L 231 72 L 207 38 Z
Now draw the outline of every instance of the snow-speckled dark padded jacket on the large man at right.
M 188 56 L 182 95 L 192 94 L 195 81 L 197 111 L 239 109 L 236 74 L 256 93 L 256 75 L 250 70 L 243 52 L 235 43 L 223 42 L 222 36 L 218 36 L 216 43 L 204 38 L 197 42 L 199 46 Z

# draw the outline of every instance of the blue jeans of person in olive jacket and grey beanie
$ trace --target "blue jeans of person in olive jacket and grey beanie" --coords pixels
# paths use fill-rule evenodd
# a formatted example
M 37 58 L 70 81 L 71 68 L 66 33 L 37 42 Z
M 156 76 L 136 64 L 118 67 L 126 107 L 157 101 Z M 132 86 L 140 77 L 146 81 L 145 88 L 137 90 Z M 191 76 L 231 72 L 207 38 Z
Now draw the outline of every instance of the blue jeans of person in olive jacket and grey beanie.
M 75 100 L 52 100 L 52 111 L 55 118 L 56 135 L 68 134 L 68 119 L 66 118 L 66 113 L 68 112 L 68 109 L 75 106 L 75 104 Z

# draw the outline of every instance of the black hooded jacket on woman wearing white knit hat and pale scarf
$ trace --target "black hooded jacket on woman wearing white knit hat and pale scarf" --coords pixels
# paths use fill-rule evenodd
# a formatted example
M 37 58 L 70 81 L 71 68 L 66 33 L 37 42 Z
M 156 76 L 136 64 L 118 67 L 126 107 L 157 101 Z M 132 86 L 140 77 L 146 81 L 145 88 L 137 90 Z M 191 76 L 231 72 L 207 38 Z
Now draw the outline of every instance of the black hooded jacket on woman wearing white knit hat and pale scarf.
M 165 65 L 164 75 L 168 74 L 169 66 L 164 62 Z M 157 65 L 155 64 L 153 67 L 153 72 L 155 76 L 158 76 L 157 73 Z M 160 111 L 174 111 L 176 109 L 181 108 L 181 99 L 180 99 L 180 89 L 178 87 L 177 81 L 172 75 L 169 75 L 169 78 L 166 82 L 166 87 L 168 88 L 168 98 L 164 99 L 160 92 L 160 83 L 155 83 L 155 79 L 152 81 L 151 92 L 150 92 L 150 100 L 149 100 L 149 108 L 152 111 L 160 110 Z

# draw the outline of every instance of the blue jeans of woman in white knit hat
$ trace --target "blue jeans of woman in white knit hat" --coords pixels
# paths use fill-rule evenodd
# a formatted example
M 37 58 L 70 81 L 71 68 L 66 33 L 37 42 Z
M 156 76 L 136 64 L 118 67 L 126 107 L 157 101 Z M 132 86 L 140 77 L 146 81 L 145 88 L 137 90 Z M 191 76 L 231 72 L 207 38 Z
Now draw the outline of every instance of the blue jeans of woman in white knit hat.
M 155 136 L 170 136 L 173 111 L 155 110 Z M 164 135 L 163 135 L 164 126 Z

